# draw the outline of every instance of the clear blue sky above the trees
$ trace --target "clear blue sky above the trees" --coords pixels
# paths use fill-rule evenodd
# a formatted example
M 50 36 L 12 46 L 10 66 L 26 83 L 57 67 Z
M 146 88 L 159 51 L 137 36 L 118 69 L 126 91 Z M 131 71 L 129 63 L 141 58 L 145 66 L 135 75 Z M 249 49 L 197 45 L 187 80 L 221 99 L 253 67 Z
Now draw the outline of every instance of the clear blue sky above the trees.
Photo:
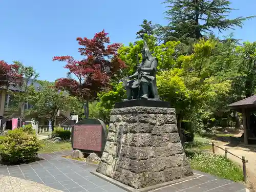
M 166 24 L 162 0 L 5 0 L 0 6 L 1 60 L 19 60 L 33 66 L 39 79 L 54 81 L 65 77 L 64 62 L 53 56 L 71 55 L 80 59 L 76 37 L 92 38 L 105 29 L 112 42 L 128 44 L 136 38 L 142 20 Z M 230 17 L 255 15 L 255 0 L 231 0 Z M 245 3 L 246 2 L 246 3 Z M 256 18 L 237 29 L 234 37 L 256 41 Z M 227 35 L 232 31 L 225 32 Z M 220 36 L 223 36 L 220 34 Z

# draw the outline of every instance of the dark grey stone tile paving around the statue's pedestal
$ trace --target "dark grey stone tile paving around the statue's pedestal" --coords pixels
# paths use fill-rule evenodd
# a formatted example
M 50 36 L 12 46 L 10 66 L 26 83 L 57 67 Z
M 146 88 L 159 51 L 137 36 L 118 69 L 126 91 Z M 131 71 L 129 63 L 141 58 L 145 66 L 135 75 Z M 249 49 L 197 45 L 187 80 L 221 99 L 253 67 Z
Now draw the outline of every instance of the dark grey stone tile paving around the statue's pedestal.
M 0 175 L 34 181 L 64 192 L 124 192 L 123 189 L 92 175 L 90 172 L 95 171 L 97 165 L 61 157 L 68 154 L 71 152 L 41 154 L 40 157 L 44 159 L 37 162 L 0 166 Z M 194 173 L 198 175 L 195 179 L 163 187 L 155 190 L 155 192 L 246 191 L 242 183 L 220 179 L 198 171 L 194 171 Z M 0 192 L 2 191 L 0 190 Z M 5 190 L 5 192 L 9 191 Z

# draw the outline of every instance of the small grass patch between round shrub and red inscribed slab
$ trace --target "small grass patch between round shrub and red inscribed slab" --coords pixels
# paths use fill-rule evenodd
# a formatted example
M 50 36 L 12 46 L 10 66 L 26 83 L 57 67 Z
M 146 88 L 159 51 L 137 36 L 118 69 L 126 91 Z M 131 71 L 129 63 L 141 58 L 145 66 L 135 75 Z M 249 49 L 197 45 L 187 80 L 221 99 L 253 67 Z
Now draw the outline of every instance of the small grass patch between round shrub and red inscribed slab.
M 54 143 L 48 139 L 41 140 L 42 148 L 38 153 L 52 153 L 72 150 L 71 142 Z

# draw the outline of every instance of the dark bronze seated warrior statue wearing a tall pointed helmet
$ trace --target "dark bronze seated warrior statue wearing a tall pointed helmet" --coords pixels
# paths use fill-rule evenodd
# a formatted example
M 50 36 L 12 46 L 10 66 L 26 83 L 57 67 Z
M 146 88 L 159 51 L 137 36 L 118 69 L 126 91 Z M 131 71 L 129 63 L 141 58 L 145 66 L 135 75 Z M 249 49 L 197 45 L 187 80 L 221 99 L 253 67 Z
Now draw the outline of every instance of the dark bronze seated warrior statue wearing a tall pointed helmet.
M 158 60 L 153 57 L 144 41 L 142 62 L 137 66 L 137 71 L 124 80 L 127 99 L 152 99 L 159 100 L 156 84 Z M 127 80 L 130 79 L 130 80 Z

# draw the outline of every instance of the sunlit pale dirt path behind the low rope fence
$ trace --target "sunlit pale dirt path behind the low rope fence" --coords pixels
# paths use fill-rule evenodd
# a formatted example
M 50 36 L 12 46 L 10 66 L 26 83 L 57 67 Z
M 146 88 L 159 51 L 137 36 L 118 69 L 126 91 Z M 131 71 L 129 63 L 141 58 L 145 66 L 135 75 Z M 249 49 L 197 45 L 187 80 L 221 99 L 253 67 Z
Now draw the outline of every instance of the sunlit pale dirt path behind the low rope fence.
M 247 170 L 247 182 L 248 182 L 248 188 L 253 189 L 253 191 L 256 191 L 256 148 L 247 148 L 243 146 L 236 146 L 236 147 L 230 147 L 227 146 L 229 143 L 224 142 L 218 142 L 218 146 L 222 148 L 227 148 L 228 152 L 237 155 L 242 158 L 242 156 L 245 156 L 246 160 L 248 160 L 248 163 L 246 163 L 246 170 Z M 216 147 L 216 154 L 224 156 L 224 151 Z M 253 152 L 255 151 L 255 152 Z M 231 155 L 227 154 L 227 157 L 237 162 L 239 165 L 242 164 L 242 160 Z

